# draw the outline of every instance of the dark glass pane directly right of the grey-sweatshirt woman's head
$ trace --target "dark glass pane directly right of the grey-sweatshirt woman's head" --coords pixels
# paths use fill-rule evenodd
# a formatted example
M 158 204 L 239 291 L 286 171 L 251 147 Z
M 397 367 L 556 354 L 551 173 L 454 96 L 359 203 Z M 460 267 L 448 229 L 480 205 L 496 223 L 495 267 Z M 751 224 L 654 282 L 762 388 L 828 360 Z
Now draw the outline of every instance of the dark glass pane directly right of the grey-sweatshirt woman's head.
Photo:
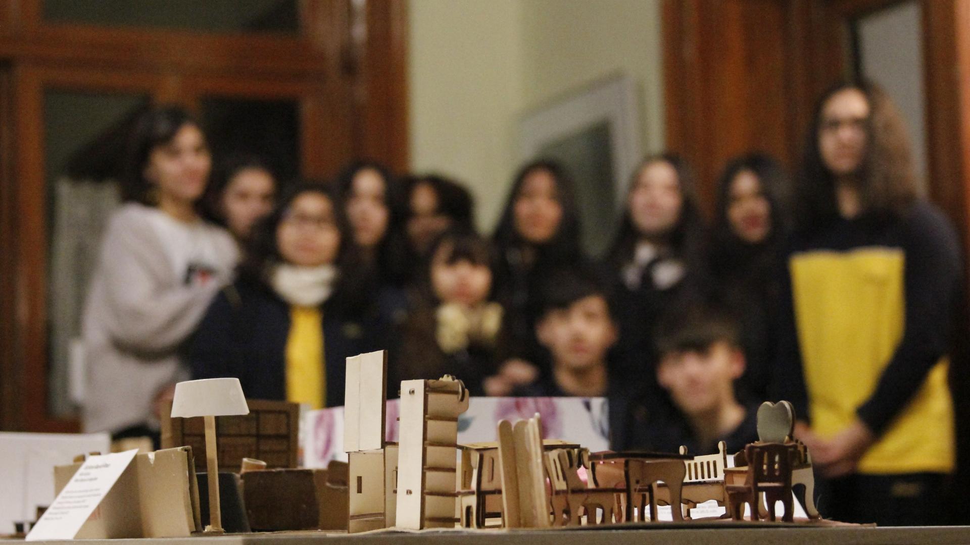
M 210 97 L 201 104 L 216 161 L 251 153 L 269 161 L 282 180 L 300 176 L 299 102 Z

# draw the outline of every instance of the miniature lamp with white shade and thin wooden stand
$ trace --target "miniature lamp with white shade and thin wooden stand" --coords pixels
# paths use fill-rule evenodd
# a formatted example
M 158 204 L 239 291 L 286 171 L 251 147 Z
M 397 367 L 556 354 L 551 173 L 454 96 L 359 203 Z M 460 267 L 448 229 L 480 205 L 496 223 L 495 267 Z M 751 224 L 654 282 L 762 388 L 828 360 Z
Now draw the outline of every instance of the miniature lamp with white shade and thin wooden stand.
M 215 417 L 249 414 L 238 378 L 205 378 L 176 384 L 172 417 L 206 419 L 206 472 L 209 479 L 209 522 L 206 531 L 222 533 L 219 511 L 219 462 L 215 454 Z

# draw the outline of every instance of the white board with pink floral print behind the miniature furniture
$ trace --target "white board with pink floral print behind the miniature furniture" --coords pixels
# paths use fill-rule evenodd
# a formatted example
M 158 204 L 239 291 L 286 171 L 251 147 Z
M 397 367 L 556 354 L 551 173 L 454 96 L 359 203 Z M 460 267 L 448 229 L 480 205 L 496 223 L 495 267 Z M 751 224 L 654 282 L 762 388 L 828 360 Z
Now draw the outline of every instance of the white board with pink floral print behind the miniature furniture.
M 496 440 L 500 420 L 515 422 L 538 413 L 542 437 L 578 443 L 593 452 L 609 448 L 604 398 L 472 398 L 458 419 L 458 442 Z M 398 400 L 387 401 L 385 438 L 398 440 Z M 311 410 L 301 418 L 300 444 L 305 467 L 326 467 L 346 461 L 343 452 L 343 407 Z

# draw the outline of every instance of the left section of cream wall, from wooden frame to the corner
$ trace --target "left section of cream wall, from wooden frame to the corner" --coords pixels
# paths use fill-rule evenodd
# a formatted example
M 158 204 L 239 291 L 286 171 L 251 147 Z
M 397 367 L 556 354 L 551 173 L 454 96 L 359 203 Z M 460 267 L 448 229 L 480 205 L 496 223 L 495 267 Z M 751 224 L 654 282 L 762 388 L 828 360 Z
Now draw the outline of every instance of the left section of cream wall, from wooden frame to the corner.
M 516 162 L 520 4 L 411 0 L 409 17 L 411 168 L 468 183 L 491 229 Z

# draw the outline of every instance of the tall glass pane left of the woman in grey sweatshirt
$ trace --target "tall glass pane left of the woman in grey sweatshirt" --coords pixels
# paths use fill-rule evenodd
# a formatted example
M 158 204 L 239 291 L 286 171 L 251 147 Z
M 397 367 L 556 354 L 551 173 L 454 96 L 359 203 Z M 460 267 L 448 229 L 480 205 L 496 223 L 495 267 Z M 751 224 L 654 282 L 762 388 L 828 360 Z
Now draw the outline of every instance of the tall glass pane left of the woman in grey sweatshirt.
M 119 151 L 149 98 L 48 90 L 44 96 L 48 214 L 48 387 L 55 418 L 76 414 L 81 308 L 101 232 L 118 202 Z

